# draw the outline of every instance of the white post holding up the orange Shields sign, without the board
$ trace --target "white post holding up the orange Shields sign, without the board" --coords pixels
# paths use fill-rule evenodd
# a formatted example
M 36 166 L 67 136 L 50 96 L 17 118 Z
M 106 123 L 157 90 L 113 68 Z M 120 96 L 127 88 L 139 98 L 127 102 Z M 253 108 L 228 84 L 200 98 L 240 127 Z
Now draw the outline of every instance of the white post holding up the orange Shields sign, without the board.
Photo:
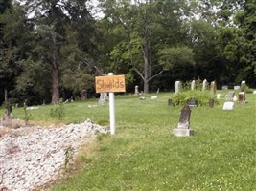
M 108 73 L 113 75 L 113 73 Z M 116 132 L 116 119 L 115 119 L 115 95 L 109 92 L 109 117 L 110 117 L 110 134 L 115 135 Z

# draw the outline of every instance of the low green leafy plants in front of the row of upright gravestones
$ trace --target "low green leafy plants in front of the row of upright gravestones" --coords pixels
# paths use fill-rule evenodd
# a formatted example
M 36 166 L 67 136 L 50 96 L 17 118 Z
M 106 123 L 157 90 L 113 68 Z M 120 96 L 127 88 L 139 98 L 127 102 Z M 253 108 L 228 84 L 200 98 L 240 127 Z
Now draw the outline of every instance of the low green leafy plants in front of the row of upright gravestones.
M 218 99 L 206 91 L 184 91 L 171 97 L 173 105 L 185 105 L 191 98 L 196 99 L 198 106 L 208 106 L 210 99 L 213 99 L 215 103 L 218 103 Z

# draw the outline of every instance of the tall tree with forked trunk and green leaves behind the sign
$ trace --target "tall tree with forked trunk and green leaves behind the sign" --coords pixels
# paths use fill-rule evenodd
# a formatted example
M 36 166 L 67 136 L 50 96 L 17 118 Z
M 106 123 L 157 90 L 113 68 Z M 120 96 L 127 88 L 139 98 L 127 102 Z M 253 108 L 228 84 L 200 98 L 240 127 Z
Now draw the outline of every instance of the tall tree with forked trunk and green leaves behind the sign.
M 128 0 L 106 0 L 102 1 L 102 6 L 105 19 L 110 26 L 115 26 L 112 30 L 120 30 L 122 36 L 125 34 L 123 42 L 118 43 L 111 55 L 117 58 L 117 53 L 122 53 L 117 51 L 122 48 L 120 45 L 127 47 L 127 53 L 120 56 L 127 59 L 128 55 L 129 68 L 140 76 L 144 82 L 144 92 L 148 93 L 151 79 L 164 71 L 157 61 L 158 49 L 166 44 L 174 46 L 178 39 L 182 39 L 179 16 L 186 10 L 183 9 L 185 4 L 166 0 L 136 1 L 134 4 Z

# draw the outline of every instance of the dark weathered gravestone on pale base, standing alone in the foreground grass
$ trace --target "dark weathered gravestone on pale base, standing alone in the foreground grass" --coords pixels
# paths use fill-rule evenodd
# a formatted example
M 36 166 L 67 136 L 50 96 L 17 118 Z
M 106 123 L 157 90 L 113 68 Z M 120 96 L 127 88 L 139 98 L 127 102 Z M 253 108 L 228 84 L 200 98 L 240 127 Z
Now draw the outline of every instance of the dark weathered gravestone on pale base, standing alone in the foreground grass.
M 173 130 L 173 134 L 176 137 L 188 137 L 194 135 L 194 131 L 190 129 L 190 115 L 190 107 L 188 104 L 186 104 L 181 110 L 177 128 Z

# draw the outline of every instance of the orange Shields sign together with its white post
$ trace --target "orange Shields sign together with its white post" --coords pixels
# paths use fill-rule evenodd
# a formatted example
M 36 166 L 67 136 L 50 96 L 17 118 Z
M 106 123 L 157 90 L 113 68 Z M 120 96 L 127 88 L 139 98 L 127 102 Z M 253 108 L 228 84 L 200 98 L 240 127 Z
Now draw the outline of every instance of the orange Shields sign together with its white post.
M 107 76 L 96 76 L 95 86 L 97 93 L 109 93 L 110 134 L 114 135 L 116 131 L 114 93 L 126 92 L 125 75 L 108 73 Z

